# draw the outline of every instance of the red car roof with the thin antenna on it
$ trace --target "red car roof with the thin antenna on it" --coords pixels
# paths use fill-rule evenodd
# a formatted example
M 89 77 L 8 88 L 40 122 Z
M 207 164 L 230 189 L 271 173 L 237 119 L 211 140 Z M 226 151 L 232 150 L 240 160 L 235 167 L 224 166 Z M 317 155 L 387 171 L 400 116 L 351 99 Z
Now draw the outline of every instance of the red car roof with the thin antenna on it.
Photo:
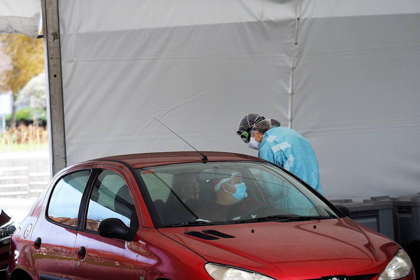
M 255 156 L 240 153 L 202 151 L 208 161 L 263 161 Z M 122 161 L 134 169 L 167 164 L 183 164 L 202 162 L 202 156 L 196 151 L 162 152 L 162 153 L 134 153 L 121 156 L 97 158 L 95 161 Z

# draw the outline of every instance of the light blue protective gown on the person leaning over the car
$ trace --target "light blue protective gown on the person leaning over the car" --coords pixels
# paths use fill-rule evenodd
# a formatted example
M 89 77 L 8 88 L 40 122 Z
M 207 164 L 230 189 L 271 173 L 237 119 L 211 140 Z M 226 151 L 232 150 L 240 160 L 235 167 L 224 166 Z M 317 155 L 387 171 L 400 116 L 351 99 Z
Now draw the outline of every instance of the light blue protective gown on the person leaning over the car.
M 274 127 L 265 132 L 258 157 L 290 171 L 323 195 L 315 152 L 296 130 Z

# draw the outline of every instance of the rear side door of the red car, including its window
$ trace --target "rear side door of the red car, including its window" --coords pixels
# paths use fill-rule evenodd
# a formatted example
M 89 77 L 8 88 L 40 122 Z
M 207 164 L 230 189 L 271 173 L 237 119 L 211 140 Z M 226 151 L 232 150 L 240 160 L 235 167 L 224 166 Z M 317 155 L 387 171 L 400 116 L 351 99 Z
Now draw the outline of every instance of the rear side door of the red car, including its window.
M 31 252 L 39 279 L 75 279 L 74 242 L 79 207 L 91 169 L 69 171 L 59 177 L 45 198 L 31 235 Z

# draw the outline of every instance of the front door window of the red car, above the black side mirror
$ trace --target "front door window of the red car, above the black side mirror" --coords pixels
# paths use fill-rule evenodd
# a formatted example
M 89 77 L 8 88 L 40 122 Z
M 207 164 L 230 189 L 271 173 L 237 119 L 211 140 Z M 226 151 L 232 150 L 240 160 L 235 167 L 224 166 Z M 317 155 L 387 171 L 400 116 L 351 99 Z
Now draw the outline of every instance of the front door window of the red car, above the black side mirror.
M 92 188 L 87 209 L 86 230 L 97 231 L 103 219 L 118 218 L 130 227 L 133 198 L 125 180 L 110 170 L 103 170 Z

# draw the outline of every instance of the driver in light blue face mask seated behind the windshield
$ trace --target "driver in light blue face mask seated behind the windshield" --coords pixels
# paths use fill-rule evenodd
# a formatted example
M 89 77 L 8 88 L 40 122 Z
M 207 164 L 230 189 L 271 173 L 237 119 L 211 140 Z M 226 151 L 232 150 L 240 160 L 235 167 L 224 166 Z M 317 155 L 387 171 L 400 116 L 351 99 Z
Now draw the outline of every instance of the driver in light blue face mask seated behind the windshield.
M 260 204 L 247 196 L 247 185 L 238 171 L 232 171 L 230 178 L 213 180 L 212 183 L 216 199 L 197 211 L 200 219 L 212 222 L 239 219 Z

